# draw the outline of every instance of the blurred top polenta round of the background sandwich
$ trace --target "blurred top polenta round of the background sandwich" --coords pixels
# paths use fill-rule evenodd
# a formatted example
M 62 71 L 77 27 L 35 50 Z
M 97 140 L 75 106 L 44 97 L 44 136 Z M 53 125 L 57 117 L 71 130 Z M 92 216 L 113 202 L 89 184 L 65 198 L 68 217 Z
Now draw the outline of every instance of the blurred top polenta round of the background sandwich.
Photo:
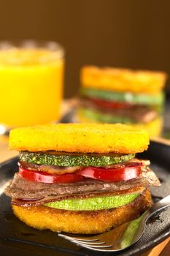
M 163 89 L 167 75 L 164 72 L 85 66 L 80 79 L 84 87 L 156 94 Z

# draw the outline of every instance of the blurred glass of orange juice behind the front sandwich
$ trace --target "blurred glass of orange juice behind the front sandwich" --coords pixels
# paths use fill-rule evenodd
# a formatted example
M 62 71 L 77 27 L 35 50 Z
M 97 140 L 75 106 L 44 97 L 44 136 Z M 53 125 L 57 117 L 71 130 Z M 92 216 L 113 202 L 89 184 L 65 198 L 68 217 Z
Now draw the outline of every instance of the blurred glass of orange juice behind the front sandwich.
M 0 134 L 58 121 L 63 66 L 57 42 L 0 42 Z

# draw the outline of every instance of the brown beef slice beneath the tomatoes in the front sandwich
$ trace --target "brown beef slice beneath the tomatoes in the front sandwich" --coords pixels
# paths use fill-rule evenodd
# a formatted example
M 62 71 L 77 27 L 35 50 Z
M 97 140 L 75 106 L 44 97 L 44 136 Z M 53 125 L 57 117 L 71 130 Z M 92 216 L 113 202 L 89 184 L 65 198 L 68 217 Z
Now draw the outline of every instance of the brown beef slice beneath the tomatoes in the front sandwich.
M 159 187 L 155 173 L 148 167 L 143 168 L 139 178 L 131 181 L 104 182 L 95 179 L 86 179 L 85 181 L 75 182 L 72 184 L 45 184 L 41 182 L 27 181 L 15 173 L 13 181 L 5 189 L 6 195 L 12 198 L 25 200 L 36 200 L 47 196 L 65 197 L 66 195 L 80 195 L 89 192 L 109 192 L 131 189 L 134 187 Z

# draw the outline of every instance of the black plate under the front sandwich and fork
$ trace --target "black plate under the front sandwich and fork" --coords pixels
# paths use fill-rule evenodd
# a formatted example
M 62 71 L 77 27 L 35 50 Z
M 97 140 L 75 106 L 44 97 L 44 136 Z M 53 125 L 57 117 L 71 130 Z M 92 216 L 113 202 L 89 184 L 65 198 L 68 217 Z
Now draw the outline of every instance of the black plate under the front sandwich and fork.
M 141 154 L 140 157 L 151 160 L 152 170 L 161 180 L 161 188 L 152 188 L 153 200 L 161 200 L 170 194 L 170 147 L 152 142 L 149 151 Z M 115 255 L 110 252 L 98 254 L 98 252 L 82 249 L 80 246 L 59 238 L 57 233 L 49 230 L 35 230 L 20 222 L 12 214 L 10 198 L 3 193 L 4 187 L 18 168 L 17 162 L 18 159 L 15 158 L 0 165 L 0 249 L 3 252 L 2 255 Z M 117 255 L 140 255 L 169 236 L 170 208 L 167 208 L 147 222 L 144 236 L 136 245 Z

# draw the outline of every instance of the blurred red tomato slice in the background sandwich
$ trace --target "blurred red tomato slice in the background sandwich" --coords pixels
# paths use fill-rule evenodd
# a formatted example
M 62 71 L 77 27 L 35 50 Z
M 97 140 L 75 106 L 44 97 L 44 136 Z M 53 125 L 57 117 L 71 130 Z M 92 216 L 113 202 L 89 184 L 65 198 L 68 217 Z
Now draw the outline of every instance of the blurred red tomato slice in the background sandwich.
M 125 102 L 109 102 L 103 99 L 94 99 L 90 98 L 92 102 L 94 102 L 96 105 L 102 108 L 129 108 L 131 107 L 131 104 L 125 103 Z

